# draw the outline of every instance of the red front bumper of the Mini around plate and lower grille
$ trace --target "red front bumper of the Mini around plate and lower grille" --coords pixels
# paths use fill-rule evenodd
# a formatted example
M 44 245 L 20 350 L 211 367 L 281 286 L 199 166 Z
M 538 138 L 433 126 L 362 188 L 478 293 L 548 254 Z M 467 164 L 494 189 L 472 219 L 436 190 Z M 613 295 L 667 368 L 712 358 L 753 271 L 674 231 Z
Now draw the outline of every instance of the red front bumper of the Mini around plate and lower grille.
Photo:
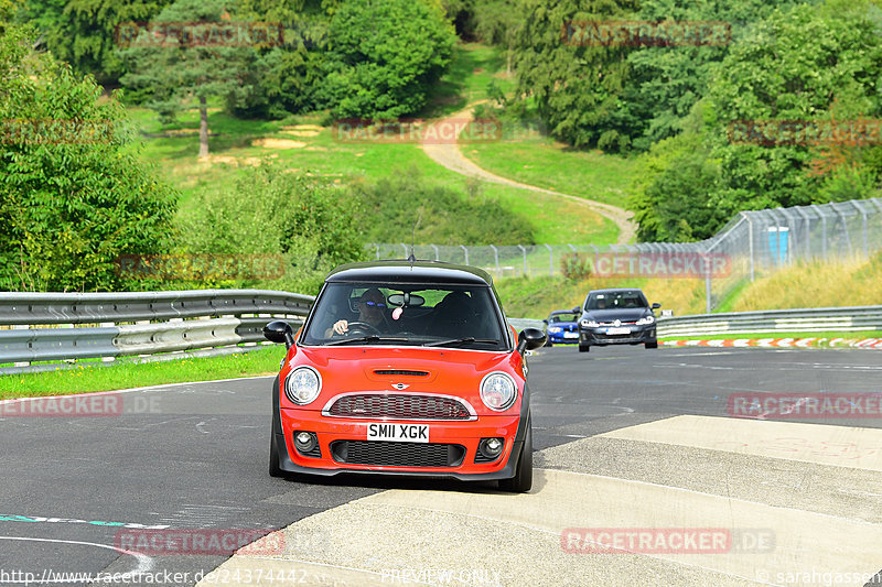
M 380 420 L 357 420 L 345 417 L 327 417 L 314 410 L 286 410 L 280 412 L 281 434 L 277 431 L 276 446 L 279 447 L 279 466 L 289 472 L 333 476 L 343 472 L 381 474 L 449 477 L 461 480 L 508 479 L 514 477 L 520 448 L 526 435 L 526 418 L 520 414 L 482 415 L 476 421 L 394 421 L 395 424 L 427 424 L 429 426 L 429 444 L 453 445 L 464 448 L 459 463 L 452 466 L 389 466 L 341 463 L 341 442 L 370 444 L 374 449 L 413 452 L 422 450 L 426 444 L 392 443 L 385 441 L 367 442 L 368 422 Z M 304 456 L 294 447 L 294 431 L 315 433 L 321 450 L 320 457 Z M 481 438 L 505 438 L 502 455 L 491 463 L 475 463 L 477 445 Z M 332 450 L 335 444 L 336 450 Z M 410 445 L 410 446 L 408 446 Z

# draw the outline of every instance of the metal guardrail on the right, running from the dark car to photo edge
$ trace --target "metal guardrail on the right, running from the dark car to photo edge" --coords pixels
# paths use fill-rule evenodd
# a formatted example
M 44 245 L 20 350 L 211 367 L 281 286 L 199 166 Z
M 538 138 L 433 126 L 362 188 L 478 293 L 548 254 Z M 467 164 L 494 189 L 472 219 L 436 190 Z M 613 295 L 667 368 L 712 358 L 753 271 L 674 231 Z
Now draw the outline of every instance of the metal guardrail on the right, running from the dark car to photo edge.
M 659 337 L 882 330 L 882 306 L 730 312 L 659 318 Z

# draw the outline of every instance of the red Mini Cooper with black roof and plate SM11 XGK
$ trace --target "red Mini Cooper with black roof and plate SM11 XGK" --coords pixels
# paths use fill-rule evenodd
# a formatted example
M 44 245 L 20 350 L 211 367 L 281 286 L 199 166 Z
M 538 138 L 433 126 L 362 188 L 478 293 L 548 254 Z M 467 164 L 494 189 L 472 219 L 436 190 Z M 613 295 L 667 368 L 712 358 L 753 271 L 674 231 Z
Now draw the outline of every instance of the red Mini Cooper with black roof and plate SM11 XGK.
M 524 354 L 545 334 L 507 325 L 491 276 L 429 261 L 331 272 L 272 384 L 269 474 L 340 472 L 533 485 Z

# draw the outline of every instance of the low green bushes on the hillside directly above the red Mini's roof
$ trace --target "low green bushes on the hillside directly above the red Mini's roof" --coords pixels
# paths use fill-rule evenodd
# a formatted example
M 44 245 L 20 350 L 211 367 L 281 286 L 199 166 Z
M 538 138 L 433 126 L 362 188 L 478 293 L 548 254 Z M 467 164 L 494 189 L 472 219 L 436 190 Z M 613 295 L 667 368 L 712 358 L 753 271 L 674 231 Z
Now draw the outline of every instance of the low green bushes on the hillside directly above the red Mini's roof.
M 359 224 L 365 242 L 435 244 L 533 243 L 529 224 L 497 202 L 484 197 L 475 184 L 469 195 L 434 186 L 415 171 L 376 184 L 355 184 L 348 196 L 372 210 Z M 413 232 L 413 227 L 417 227 Z

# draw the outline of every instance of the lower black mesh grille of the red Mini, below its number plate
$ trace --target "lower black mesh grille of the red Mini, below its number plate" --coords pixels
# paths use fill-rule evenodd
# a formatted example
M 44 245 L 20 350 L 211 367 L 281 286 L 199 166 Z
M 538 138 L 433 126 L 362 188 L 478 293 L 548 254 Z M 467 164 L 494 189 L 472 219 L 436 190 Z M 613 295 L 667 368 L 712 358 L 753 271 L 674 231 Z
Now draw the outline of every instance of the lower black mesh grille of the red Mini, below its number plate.
M 348 465 L 386 467 L 458 467 L 465 457 L 459 444 L 387 443 L 381 441 L 336 441 L 331 455 Z

